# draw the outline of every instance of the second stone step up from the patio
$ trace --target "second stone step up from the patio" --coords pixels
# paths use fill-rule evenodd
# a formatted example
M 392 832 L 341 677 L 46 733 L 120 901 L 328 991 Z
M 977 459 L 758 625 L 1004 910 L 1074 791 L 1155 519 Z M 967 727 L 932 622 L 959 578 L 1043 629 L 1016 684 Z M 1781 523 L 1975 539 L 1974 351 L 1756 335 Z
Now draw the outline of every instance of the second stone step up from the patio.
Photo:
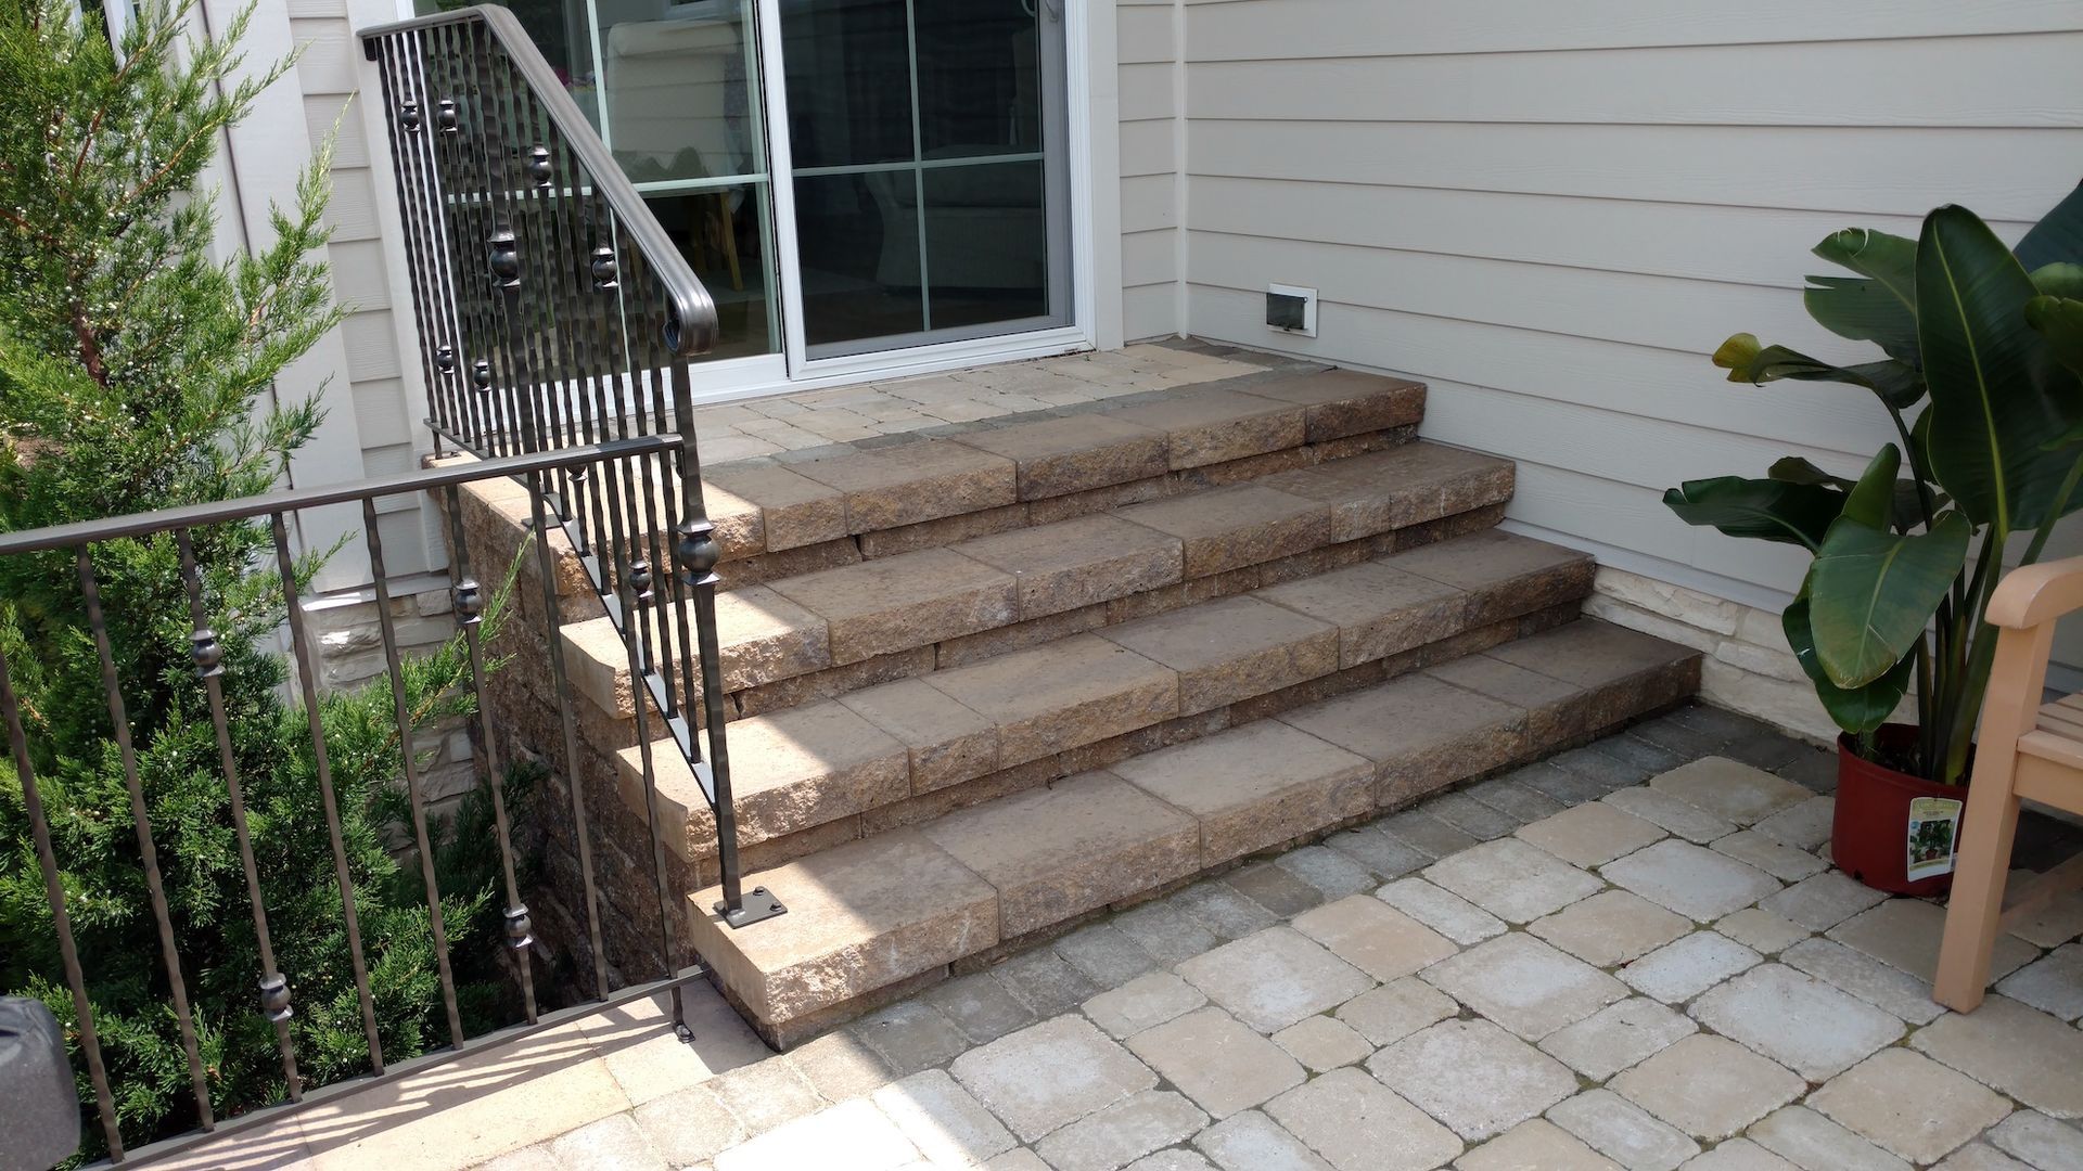
M 1456 583 L 1410 573 L 1412 565 Z M 1014 769 L 1583 598 L 1591 558 L 1485 529 L 1319 577 L 1214 598 L 967 667 L 729 725 L 742 844 Z M 654 729 L 656 731 L 656 729 Z M 671 744 L 650 752 L 667 842 L 714 850 L 714 821 Z M 644 804 L 644 748 L 617 754 Z

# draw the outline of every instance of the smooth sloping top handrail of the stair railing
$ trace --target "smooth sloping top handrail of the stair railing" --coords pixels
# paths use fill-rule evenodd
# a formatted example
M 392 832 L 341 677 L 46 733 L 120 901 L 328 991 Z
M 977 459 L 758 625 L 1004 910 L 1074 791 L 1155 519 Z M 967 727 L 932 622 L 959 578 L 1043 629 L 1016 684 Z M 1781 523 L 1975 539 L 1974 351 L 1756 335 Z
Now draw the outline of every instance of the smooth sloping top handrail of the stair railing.
M 706 354 L 717 344 L 717 300 L 708 296 L 708 285 L 694 275 L 694 267 L 687 265 L 687 258 L 667 238 L 650 204 L 644 202 L 644 196 L 623 175 L 623 167 L 608 152 L 608 146 L 600 142 L 594 123 L 585 121 L 585 113 L 564 92 L 564 83 L 556 79 L 556 71 L 550 69 L 542 50 L 535 48 L 533 38 L 527 35 L 527 29 L 521 27 L 521 21 L 510 10 L 494 4 L 473 4 L 454 13 L 435 13 L 431 17 L 412 17 L 410 21 L 360 29 L 362 56 L 377 60 L 377 42 L 387 35 L 469 23 L 483 23 L 492 38 L 500 42 L 500 48 L 506 50 L 506 56 L 512 58 L 515 69 L 521 71 L 535 100 L 542 102 L 544 113 L 550 115 L 558 133 L 564 135 L 564 146 L 592 173 L 594 190 L 614 208 L 623 231 L 633 238 L 637 250 L 644 252 L 644 260 L 652 267 L 652 275 L 664 285 L 671 302 L 667 306 L 667 350 L 681 358 Z

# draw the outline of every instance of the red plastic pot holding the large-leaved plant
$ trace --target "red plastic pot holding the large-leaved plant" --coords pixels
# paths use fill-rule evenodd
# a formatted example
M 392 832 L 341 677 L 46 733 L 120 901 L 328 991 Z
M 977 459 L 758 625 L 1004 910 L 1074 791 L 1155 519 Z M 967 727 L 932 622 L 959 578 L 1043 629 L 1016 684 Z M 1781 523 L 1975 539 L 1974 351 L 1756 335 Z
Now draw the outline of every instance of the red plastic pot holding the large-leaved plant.
M 1898 746 L 1914 740 L 1916 729 L 1889 723 L 1877 738 L 1885 746 Z M 1912 821 L 1929 823 L 1933 811 L 1929 804 L 1918 806 L 1927 817 L 1912 817 L 1912 802 L 1921 798 L 1956 802 L 1935 806 L 1941 813 L 1952 811 L 1950 833 L 1918 838 Z M 1950 861 L 1952 848 L 1960 842 L 1958 815 L 1964 806 L 1966 786 L 1941 786 L 1875 765 L 1854 750 L 1850 733 L 1837 738 L 1837 813 L 1831 819 L 1829 852 L 1837 869 L 1873 890 L 1918 898 L 1946 894 L 1952 888 Z M 1946 865 L 1946 873 L 1912 877 L 1912 869 L 1931 871 L 1939 865 Z

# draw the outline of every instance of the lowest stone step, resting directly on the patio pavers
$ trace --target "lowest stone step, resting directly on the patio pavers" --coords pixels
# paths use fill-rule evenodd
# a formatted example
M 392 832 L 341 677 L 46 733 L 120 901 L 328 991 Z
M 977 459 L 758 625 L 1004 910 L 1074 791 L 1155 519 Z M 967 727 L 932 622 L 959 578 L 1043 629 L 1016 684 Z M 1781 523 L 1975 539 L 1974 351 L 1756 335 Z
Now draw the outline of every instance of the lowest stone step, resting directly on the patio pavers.
M 1419 671 L 756 873 L 748 883 L 792 908 L 764 923 L 723 927 L 719 892 L 698 892 L 696 950 L 762 1027 L 789 1033 L 796 1017 L 1002 940 L 1671 704 L 1698 688 L 1698 658 L 1577 621 L 1456 661 L 1483 671 Z M 1527 688 L 1521 669 L 1544 686 Z M 933 898 L 939 888 L 958 898 Z M 844 925 L 819 921 L 833 911 Z

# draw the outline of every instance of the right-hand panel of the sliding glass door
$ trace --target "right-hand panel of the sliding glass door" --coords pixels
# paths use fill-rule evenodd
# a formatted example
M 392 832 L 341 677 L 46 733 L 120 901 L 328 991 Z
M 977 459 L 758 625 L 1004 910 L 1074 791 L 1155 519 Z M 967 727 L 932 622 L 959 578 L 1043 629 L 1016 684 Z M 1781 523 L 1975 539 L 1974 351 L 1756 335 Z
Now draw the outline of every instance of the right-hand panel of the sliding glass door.
M 779 0 L 808 358 L 1069 323 L 1050 0 Z

